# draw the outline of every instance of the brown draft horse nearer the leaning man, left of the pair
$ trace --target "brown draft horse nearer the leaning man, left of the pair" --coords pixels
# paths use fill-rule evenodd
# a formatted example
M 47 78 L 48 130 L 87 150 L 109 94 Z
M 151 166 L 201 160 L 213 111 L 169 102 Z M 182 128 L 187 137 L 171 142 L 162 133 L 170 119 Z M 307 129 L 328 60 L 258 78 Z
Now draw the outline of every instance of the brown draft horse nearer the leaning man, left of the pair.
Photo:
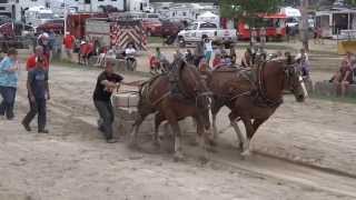
M 210 128 L 209 111 L 211 92 L 200 78 L 198 70 L 184 61 L 178 63 L 178 89 L 181 98 L 171 96 L 169 77 L 158 76 L 142 84 L 138 106 L 138 118 L 131 133 L 131 146 L 137 146 L 137 133 L 145 118 L 155 113 L 155 144 L 159 147 L 159 126 L 168 121 L 175 137 L 175 159 L 182 159 L 181 131 L 178 121 L 192 117 L 197 123 L 197 132 L 204 146 L 207 142 L 205 131 Z M 200 144 L 202 144 L 200 143 Z

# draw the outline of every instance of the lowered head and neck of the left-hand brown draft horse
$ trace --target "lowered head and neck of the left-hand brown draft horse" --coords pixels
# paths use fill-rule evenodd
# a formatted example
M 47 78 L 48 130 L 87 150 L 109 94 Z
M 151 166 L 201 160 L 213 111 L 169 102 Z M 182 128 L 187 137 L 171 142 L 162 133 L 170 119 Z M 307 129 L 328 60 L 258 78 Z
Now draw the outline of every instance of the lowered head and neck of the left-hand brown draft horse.
M 195 99 L 196 106 L 202 113 L 205 127 L 210 127 L 209 110 L 211 104 L 212 93 L 207 87 L 206 80 L 202 78 L 197 68 L 192 64 L 180 62 L 181 69 L 181 84 L 186 96 Z

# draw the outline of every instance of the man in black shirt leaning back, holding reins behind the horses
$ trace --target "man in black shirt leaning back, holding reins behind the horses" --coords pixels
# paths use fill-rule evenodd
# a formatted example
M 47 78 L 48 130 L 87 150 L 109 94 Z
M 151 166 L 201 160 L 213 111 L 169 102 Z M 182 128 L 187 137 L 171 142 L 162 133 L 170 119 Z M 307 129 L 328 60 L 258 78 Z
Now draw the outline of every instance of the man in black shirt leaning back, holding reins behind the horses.
M 99 130 L 105 133 L 108 143 L 117 142 L 112 138 L 113 108 L 111 94 L 118 88 L 123 78 L 113 73 L 113 63 L 107 62 L 105 71 L 98 77 L 96 90 L 93 92 L 93 103 L 99 112 L 102 123 Z

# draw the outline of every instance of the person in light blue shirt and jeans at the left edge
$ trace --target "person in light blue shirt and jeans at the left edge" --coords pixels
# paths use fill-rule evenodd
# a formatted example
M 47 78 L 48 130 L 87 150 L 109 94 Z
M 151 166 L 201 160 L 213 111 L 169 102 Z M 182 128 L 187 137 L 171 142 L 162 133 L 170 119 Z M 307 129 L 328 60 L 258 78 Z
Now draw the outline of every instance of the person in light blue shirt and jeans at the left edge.
M 18 88 L 18 71 L 17 61 L 18 52 L 16 49 L 9 49 L 8 56 L 0 62 L 0 94 L 2 102 L 0 103 L 0 118 L 12 120 L 16 92 Z

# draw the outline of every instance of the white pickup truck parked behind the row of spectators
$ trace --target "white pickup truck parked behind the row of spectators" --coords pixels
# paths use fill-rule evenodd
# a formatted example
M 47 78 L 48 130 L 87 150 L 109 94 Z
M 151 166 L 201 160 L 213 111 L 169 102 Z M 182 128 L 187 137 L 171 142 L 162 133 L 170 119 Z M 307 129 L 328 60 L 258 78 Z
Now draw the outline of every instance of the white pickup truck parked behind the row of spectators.
M 237 31 L 235 29 L 218 29 L 218 26 L 209 22 L 195 22 L 186 30 L 178 33 L 178 41 L 181 47 L 186 43 L 197 43 L 207 36 L 216 44 L 229 47 L 237 42 Z

